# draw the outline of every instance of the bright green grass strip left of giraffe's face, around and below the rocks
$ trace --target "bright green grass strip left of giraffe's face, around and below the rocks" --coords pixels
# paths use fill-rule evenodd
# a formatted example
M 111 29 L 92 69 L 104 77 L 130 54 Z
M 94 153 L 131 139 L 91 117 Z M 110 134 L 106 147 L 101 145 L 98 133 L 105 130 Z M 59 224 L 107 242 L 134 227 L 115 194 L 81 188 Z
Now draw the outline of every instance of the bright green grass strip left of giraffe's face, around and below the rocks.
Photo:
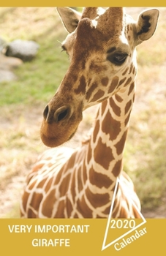
M 3 86 L 0 95 L 1 106 L 20 102 L 23 104 L 48 102 L 53 97 L 67 70 L 67 56 L 61 53 L 56 37 L 49 42 L 39 41 L 39 45 L 36 59 L 24 63 L 15 70 L 18 80 L 1 84 Z

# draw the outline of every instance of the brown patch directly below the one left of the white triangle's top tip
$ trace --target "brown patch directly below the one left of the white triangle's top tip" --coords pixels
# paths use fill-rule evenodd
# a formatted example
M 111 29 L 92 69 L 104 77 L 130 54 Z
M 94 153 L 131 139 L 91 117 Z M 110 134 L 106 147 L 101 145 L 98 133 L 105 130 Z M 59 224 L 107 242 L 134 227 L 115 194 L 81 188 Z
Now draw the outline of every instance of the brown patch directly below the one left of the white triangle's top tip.
M 105 194 L 94 194 L 89 188 L 86 189 L 86 197 L 94 208 L 105 206 L 110 201 L 108 193 Z

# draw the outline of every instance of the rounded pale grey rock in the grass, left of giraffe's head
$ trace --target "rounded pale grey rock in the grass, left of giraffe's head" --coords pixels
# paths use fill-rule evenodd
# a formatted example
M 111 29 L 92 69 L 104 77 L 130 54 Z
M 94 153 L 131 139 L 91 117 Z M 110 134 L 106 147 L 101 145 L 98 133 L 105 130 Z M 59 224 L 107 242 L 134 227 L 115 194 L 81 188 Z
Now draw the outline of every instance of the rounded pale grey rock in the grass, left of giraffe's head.
M 37 42 L 16 39 L 8 44 L 6 56 L 17 57 L 23 61 L 31 61 L 37 55 L 38 49 Z

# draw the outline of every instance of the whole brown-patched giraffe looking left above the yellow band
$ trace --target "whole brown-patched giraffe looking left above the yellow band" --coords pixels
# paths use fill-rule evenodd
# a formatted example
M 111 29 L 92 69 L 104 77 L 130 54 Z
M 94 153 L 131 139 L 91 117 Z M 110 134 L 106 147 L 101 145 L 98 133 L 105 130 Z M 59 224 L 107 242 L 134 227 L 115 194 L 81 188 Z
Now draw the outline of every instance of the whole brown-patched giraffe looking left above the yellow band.
M 135 99 L 136 46 L 154 34 L 159 11 L 145 10 L 137 21 L 122 7 L 57 11 L 69 32 L 61 47 L 70 64 L 43 112 L 41 138 L 50 149 L 27 177 L 21 217 L 107 218 L 119 178 L 112 217 L 139 218 L 126 194 L 140 209 L 123 154 Z M 59 147 L 92 105 L 99 108 L 88 139 L 79 148 Z

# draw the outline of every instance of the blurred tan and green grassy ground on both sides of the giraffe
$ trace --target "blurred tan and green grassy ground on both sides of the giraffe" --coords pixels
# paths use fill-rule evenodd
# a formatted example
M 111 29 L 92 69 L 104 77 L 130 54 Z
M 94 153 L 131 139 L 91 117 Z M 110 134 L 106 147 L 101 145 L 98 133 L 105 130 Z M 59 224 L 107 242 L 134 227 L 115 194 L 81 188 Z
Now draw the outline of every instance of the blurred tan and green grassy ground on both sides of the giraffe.
M 154 37 L 137 47 L 137 93 L 124 154 L 124 170 L 135 183 L 142 207 L 149 209 L 164 203 L 166 191 L 165 17 L 166 8 L 160 8 Z M 18 80 L 0 85 L 1 203 L 4 195 L 17 190 L 17 182 L 10 188 L 13 178 L 26 179 L 46 148 L 39 138 L 42 111 L 61 83 L 69 61 L 59 48 L 58 40 L 61 42 L 67 33 L 55 8 L 0 8 L 0 24 L 0 36 L 7 42 L 20 38 L 39 43 L 37 57 L 15 69 Z M 86 127 L 90 120 L 86 117 Z M 77 136 L 80 138 L 79 133 Z M 24 178 L 21 182 L 23 186 Z M 18 200 L 8 211 L 3 211 L 2 204 L 0 217 L 19 217 Z

